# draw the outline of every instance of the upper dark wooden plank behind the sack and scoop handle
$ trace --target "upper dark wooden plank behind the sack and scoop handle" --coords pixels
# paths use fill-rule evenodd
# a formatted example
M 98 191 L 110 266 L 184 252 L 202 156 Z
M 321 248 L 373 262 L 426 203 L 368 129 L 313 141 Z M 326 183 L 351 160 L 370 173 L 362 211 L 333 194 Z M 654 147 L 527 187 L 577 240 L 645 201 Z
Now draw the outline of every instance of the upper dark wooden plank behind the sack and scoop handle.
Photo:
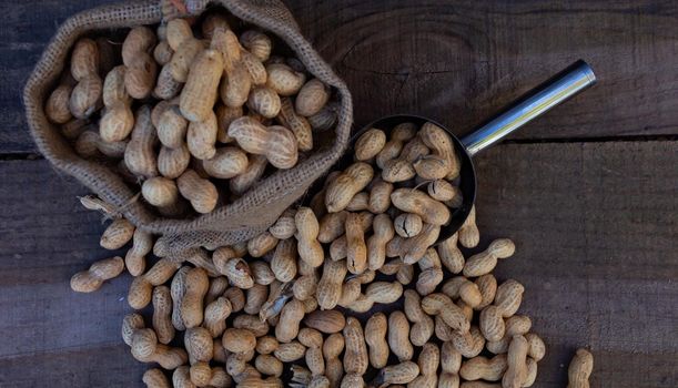
M 0 152 L 34 152 L 21 89 L 68 16 L 115 0 L 4 2 Z M 578 58 L 600 84 L 515 139 L 675 134 L 678 25 L 672 1 L 287 0 L 344 76 L 357 126 L 418 113 L 465 133 Z

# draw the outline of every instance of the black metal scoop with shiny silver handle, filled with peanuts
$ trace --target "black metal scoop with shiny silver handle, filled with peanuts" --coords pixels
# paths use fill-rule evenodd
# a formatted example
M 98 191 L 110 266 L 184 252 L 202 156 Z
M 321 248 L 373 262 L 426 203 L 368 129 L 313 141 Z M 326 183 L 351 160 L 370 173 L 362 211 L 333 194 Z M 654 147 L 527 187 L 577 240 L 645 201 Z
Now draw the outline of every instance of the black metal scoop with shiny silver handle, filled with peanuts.
M 459 190 L 464 200 L 462 205 L 453 212 L 451 221 L 441 228 L 441 235 L 437 241 L 439 243 L 449 238 L 462 227 L 475 202 L 477 182 L 472 156 L 595 83 L 596 75 L 593 69 L 586 62 L 579 60 L 539 86 L 527 92 L 515 103 L 503 110 L 502 113 L 461 140 L 435 120 L 413 114 L 397 114 L 382 118 L 367 124 L 353 136 L 351 146 L 365 131 L 372 127 L 380 129 L 388 135 L 394 126 L 405 122 L 412 122 L 417 126 L 432 122 L 449 134 L 455 144 L 457 156 L 462 162 Z M 352 152 L 347 152 L 347 155 L 352 155 Z M 342 160 L 338 164 L 340 166 L 346 166 L 351 162 L 352 160 Z

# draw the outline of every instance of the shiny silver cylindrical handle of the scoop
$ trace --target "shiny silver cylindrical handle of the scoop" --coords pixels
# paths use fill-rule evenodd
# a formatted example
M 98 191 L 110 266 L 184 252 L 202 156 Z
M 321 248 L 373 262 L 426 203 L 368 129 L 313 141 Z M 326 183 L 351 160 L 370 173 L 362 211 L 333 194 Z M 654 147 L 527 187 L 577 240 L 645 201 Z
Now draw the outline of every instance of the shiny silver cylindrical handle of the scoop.
M 487 124 L 464 136 L 462 144 L 473 156 L 595 83 L 594 70 L 579 60 L 529 91 L 518 103 Z

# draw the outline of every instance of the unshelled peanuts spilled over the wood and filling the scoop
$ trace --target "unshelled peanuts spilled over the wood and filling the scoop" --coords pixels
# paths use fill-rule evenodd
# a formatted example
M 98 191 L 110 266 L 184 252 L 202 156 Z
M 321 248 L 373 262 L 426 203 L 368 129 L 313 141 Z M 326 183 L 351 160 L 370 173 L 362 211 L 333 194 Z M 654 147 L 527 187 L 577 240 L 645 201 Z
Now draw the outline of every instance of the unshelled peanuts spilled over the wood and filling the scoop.
M 495 239 L 465 258 L 458 244 L 479 243 L 474 210 L 433 246 L 461 203 L 449 135 L 432 123 L 399 124 L 391 139 L 373 129 L 354 157 L 262 235 L 148 270 L 153 236 L 83 197 L 114 218 L 104 248 L 133 245 L 71 287 L 95 290 L 125 267 L 135 276 L 128 302 L 152 304 L 153 316 L 125 316 L 122 337 L 135 359 L 158 364 L 148 387 L 530 387 L 545 344 L 517 314 L 523 285 L 492 274 L 514 243 Z M 588 387 L 593 357 L 581 351 L 573 388 Z

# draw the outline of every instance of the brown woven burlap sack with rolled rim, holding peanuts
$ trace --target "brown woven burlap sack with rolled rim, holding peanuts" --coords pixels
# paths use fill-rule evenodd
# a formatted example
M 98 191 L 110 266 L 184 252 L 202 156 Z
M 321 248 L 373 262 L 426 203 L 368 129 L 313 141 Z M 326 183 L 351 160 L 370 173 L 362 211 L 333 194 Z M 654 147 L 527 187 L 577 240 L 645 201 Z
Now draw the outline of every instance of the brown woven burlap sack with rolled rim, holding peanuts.
M 310 159 L 294 169 L 276 172 L 240 200 L 215 208 L 210 214 L 191 219 L 163 218 L 146 207 L 143 201 L 135 200 L 138 187 L 130 188 L 110 169 L 78 156 L 60 131 L 47 120 L 44 101 L 79 37 L 92 30 L 154 24 L 163 18 L 198 16 L 213 4 L 221 4 L 235 17 L 280 37 L 313 75 L 335 89 L 341 101 L 336 139 L 330 149 L 315 150 Z M 145 0 L 78 13 L 59 28 L 42 53 L 26 85 L 23 102 L 31 134 L 44 157 L 120 208 L 138 227 L 163 235 L 159 244 L 163 255 L 180 255 L 199 246 L 234 244 L 265 231 L 342 155 L 353 121 L 351 94 L 346 85 L 302 37 L 292 14 L 277 0 L 186 0 L 183 3 L 178 0 Z

